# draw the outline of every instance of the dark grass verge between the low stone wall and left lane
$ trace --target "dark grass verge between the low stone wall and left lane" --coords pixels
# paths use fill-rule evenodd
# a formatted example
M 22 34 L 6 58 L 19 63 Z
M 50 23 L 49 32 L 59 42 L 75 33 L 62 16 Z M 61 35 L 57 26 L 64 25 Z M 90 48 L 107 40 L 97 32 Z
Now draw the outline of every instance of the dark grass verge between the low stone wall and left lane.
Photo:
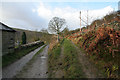
M 21 57 L 27 55 L 29 52 L 35 50 L 36 48 L 42 46 L 43 44 L 23 49 L 18 52 L 10 53 L 7 55 L 2 56 L 2 67 L 8 66 L 9 64 L 15 62 L 16 60 L 20 59 Z

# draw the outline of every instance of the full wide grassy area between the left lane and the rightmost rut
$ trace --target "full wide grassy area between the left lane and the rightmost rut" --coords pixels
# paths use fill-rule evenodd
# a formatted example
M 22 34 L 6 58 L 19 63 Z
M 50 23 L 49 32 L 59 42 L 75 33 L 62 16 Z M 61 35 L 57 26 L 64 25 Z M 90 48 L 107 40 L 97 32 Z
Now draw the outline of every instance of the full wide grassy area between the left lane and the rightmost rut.
M 64 48 L 63 59 L 60 59 L 61 47 Z M 59 64 L 59 60 L 62 60 L 63 62 Z M 62 73 L 64 73 L 64 76 L 62 76 L 64 78 L 85 78 L 78 60 L 77 49 L 67 39 L 56 44 L 49 52 L 48 77 L 56 78 L 56 72 L 61 69 Z

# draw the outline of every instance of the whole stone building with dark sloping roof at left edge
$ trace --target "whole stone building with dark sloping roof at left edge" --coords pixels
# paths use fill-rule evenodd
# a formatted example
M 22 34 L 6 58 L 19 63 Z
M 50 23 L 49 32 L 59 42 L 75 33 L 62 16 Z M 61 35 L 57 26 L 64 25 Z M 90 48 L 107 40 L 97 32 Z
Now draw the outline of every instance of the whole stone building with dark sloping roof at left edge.
M 15 30 L 0 22 L 0 49 L 2 56 L 8 53 L 13 53 L 15 48 Z

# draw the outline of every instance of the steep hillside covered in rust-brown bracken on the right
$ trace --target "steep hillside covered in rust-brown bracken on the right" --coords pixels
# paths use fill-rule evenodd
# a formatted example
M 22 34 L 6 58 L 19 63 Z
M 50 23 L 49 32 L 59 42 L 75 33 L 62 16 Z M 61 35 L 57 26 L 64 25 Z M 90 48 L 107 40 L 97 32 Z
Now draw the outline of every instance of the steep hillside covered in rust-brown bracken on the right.
M 120 12 L 114 12 L 95 20 L 82 31 L 66 38 L 86 51 L 86 55 L 107 77 L 119 76 Z

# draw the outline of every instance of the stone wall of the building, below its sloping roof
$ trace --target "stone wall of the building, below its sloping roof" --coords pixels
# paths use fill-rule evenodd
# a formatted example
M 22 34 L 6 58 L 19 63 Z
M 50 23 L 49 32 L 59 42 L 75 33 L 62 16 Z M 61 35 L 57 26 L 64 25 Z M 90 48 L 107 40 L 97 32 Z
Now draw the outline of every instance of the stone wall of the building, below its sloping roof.
M 2 56 L 13 53 L 15 48 L 15 32 L 2 31 Z

